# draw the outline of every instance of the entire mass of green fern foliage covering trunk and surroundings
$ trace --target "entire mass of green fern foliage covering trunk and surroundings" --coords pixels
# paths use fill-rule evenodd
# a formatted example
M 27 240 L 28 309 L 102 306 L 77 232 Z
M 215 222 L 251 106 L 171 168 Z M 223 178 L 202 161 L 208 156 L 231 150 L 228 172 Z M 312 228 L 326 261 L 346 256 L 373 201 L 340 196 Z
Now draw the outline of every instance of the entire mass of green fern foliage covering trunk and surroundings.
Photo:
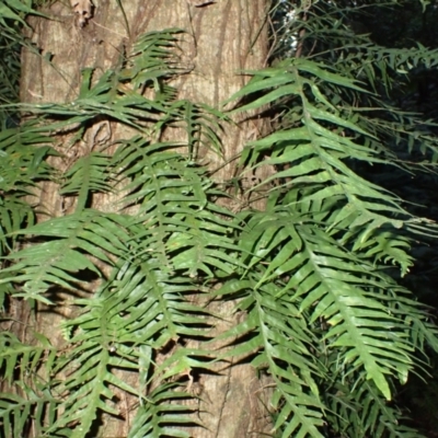
M 19 3 L 0 4 L 13 11 Z M 395 105 L 408 100 L 408 74 L 434 68 L 438 51 L 355 34 L 351 20 L 369 2 L 296 3 L 274 8 L 281 45 L 273 67 L 247 72 L 252 80 L 229 101 L 232 112 L 273 118 L 273 132 L 241 158 L 242 177 L 276 170 L 250 189 L 269 187 L 264 210 L 220 207 L 231 195 L 197 163 L 200 145 L 220 152 L 232 112 L 174 99 L 176 30 L 141 35 L 113 70 L 97 79 L 84 70 L 73 102 L 21 106 L 38 122 L 1 131 L 3 319 L 11 300 L 56 306 L 59 290 L 81 312 L 59 327 L 62 349 L 38 333 L 30 344 L 0 333 L 3 379 L 16 389 L 0 395 L 0 436 L 32 427 L 37 437 L 85 437 L 103 412 L 118 414 L 114 388 L 138 397 L 130 438 L 188 436 L 170 427 L 188 420 L 177 403 L 191 396 L 177 391 L 181 377 L 215 360 L 215 316 L 196 295 L 238 299 L 245 319 L 220 337 L 234 342 L 229 356 L 249 355 L 275 382 L 276 436 L 422 436 L 404 422 L 397 393 L 412 374 L 426 376 L 438 332 L 419 291 L 405 285 L 438 229 L 388 174 L 433 175 L 434 123 Z M 105 117 L 138 134 L 114 154 L 89 151 L 62 174 L 47 164 L 50 132 L 76 127 L 74 141 Z M 174 124 L 185 128 L 185 153 L 157 140 Z M 25 197 L 43 181 L 77 197 L 71 214 L 36 221 Z M 116 195 L 120 182 L 113 212 L 90 208 L 96 193 Z M 90 278 L 100 279 L 99 290 L 74 298 Z M 199 348 L 185 347 L 192 338 Z M 173 354 L 155 366 L 171 343 Z M 138 373 L 138 385 L 117 370 Z

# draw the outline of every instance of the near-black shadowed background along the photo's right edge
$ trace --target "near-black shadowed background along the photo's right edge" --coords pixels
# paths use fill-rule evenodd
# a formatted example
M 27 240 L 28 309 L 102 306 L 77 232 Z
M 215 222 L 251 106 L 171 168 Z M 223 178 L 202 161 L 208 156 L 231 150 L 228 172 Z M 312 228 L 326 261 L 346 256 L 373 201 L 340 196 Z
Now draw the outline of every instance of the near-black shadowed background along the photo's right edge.
M 379 4 L 380 3 L 380 4 Z M 430 49 L 438 48 L 438 3 L 429 2 L 424 7 L 419 2 L 400 1 L 392 2 L 373 1 L 343 1 L 337 2 L 344 7 L 336 12 L 337 19 L 350 28 L 350 32 L 333 32 L 325 28 L 324 37 L 319 39 L 309 37 L 306 43 L 314 51 L 327 50 L 324 57 L 330 59 L 330 48 L 372 42 L 389 49 L 405 49 L 418 45 Z M 327 2 L 321 5 L 321 13 L 314 20 L 322 20 L 326 13 L 331 13 Z M 333 11 L 333 10 L 332 10 Z M 339 35 L 341 34 L 341 35 Z M 328 37 L 327 37 L 328 36 Z M 316 41 L 316 43 L 315 43 Z M 328 60 L 330 61 L 330 60 Z M 408 71 L 389 70 L 388 79 L 381 82 L 377 89 L 379 99 L 388 105 L 401 107 L 406 113 L 415 113 L 413 122 L 420 130 L 430 136 L 438 134 L 438 69 L 435 61 L 425 59 Z M 391 115 L 387 115 L 391 119 Z M 399 148 L 400 143 L 394 138 L 388 138 L 392 142 L 392 150 L 403 157 L 404 152 Z M 436 160 L 434 152 L 428 158 Z M 424 154 L 417 151 L 410 155 L 410 160 L 424 163 Z M 377 169 L 376 169 L 377 168 Z M 394 170 L 393 166 L 378 165 L 370 169 L 365 166 L 360 173 L 396 193 L 406 200 L 405 207 L 419 216 L 427 216 L 438 220 L 437 188 L 438 175 L 434 172 L 417 172 L 415 175 L 406 171 Z M 417 242 L 413 247 L 416 258 L 410 275 L 400 279 L 422 302 L 433 308 L 429 310 L 431 318 L 438 319 L 438 246 L 431 239 Z M 396 275 L 396 274 L 394 274 Z M 427 437 L 438 436 L 438 357 L 433 354 L 431 378 L 423 379 L 413 377 L 408 383 L 400 389 L 396 403 L 403 406 L 408 422 L 422 430 Z

